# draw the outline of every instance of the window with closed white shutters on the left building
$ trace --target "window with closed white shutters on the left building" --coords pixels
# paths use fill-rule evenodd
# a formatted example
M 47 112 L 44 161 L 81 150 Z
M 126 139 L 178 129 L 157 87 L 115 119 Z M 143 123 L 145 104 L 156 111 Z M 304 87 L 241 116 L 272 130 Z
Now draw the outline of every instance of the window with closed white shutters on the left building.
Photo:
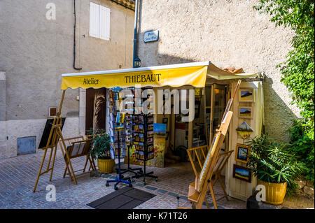
M 109 41 L 111 9 L 90 2 L 90 36 Z

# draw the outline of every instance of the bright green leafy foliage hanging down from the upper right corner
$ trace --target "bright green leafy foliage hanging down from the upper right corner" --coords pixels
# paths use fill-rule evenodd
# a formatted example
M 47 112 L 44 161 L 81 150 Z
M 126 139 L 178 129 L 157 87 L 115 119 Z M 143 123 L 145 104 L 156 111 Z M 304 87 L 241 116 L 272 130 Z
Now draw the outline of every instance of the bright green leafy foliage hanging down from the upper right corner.
M 314 141 L 314 0 L 260 0 L 254 6 L 272 16 L 277 26 L 295 31 L 291 41 L 293 50 L 286 62 L 279 64 L 283 82 L 292 96 L 292 103 L 300 108 L 300 124 Z

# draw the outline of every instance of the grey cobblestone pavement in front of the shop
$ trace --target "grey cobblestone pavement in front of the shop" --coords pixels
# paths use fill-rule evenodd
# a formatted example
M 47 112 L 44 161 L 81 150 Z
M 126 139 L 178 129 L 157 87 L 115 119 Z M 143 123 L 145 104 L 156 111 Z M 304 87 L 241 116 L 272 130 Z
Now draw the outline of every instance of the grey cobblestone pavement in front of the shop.
M 89 173 L 83 174 L 77 177 L 78 185 L 74 185 L 69 177 L 62 178 L 65 164 L 61 152 L 57 152 L 52 181 L 49 182 L 49 173 L 42 175 L 36 192 L 33 193 L 42 155 L 43 151 L 37 151 L 36 154 L 0 160 L 0 208 L 90 208 L 87 203 L 114 192 L 113 185 L 106 187 L 105 182 L 109 178 L 115 178 L 116 173 L 104 175 L 103 178 L 91 178 Z M 83 168 L 85 157 L 72 160 L 74 169 Z M 123 164 L 122 168 L 124 167 L 127 165 Z M 191 206 L 187 201 L 187 194 L 188 185 L 195 180 L 193 172 L 174 167 L 147 167 L 148 171 L 154 171 L 154 175 L 158 175 L 158 182 L 146 178 L 144 185 L 142 178 L 139 178 L 135 179 L 133 185 L 156 196 L 137 206 L 137 209 L 176 208 L 176 196 L 180 196 L 179 206 Z M 55 202 L 45 199 L 48 193 L 45 189 L 50 184 L 56 187 Z M 125 185 L 120 184 L 118 188 L 120 187 Z M 216 197 L 223 195 L 218 184 L 214 190 L 218 193 Z M 211 203 L 210 198 L 208 201 Z M 232 198 L 230 201 L 222 199 L 218 201 L 218 208 L 246 208 L 246 203 Z

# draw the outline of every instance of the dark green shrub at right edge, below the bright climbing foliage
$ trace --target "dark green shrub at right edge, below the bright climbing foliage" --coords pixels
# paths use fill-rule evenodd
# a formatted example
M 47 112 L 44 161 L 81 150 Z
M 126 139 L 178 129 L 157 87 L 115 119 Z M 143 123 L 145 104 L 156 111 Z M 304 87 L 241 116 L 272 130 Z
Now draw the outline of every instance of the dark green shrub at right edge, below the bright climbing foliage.
M 290 129 L 290 152 L 305 164 L 304 178 L 314 183 L 314 140 L 305 134 L 304 127 L 295 122 Z

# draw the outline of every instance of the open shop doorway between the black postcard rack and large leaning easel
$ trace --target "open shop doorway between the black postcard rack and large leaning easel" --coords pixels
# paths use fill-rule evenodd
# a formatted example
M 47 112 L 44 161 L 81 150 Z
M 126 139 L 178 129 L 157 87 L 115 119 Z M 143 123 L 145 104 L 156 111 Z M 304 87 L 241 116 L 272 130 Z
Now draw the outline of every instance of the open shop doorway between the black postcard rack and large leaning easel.
M 180 89 L 188 90 L 192 89 L 192 87 L 181 87 Z M 181 112 L 179 114 L 174 114 L 174 109 L 172 109 L 171 115 L 164 115 L 165 117 L 163 117 L 165 123 L 169 122 L 171 125 L 170 128 L 167 128 L 170 137 L 166 146 L 166 166 L 186 166 L 187 164 L 189 168 L 190 162 L 188 161 L 186 152 L 187 148 L 209 145 L 209 142 L 212 141 L 213 136 L 216 133 L 216 129 L 219 129 L 220 127 L 227 99 L 229 98 L 229 85 L 212 83 L 203 88 L 193 89 L 195 89 L 195 118 L 192 123 L 181 122 L 183 114 L 181 114 Z M 186 103 L 188 106 L 188 101 L 180 101 L 180 103 Z M 170 121 L 167 120 L 169 117 L 171 119 Z M 158 119 L 158 121 L 160 121 L 160 119 Z M 192 128 L 193 136 L 189 136 L 190 128 Z M 221 150 L 223 152 L 228 151 L 227 139 L 223 143 Z M 176 157 L 172 156 L 177 156 L 179 158 L 176 159 Z M 179 164 L 179 162 L 181 164 Z

